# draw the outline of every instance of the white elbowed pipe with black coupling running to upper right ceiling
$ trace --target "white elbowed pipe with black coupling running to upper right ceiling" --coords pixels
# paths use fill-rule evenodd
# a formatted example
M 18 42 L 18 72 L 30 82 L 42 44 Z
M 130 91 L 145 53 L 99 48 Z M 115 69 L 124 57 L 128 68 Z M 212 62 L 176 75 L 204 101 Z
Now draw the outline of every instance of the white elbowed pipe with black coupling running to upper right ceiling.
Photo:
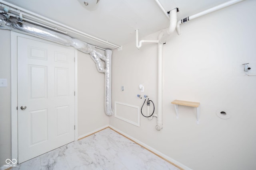
M 223 4 L 220 4 L 220 5 L 218 5 L 218 6 L 214 6 L 214 7 L 210 8 L 210 9 L 208 9 L 208 10 L 204 10 L 204 11 L 202 11 L 202 12 L 199 12 L 199 13 L 197 13 L 197 14 L 194 14 L 194 15 L 192 15 L 192 16 L 189 16 L 189 17 L 187 17 L 187 18 L 184 18 L 184 19 L 186 19 L 185 22 L 186 22 L 186 21 L 193 20 L 193 19 L 198 18 L 198 17 L 200 17 L 200 16 L 204 16 L 204 15 L 209 14 L 209 13 L 211 13 L 211 12 L 220 10 L 220 9 L 222 9 L 222 8 L 226 8 L 226 7 L 228 7 L 228 6 L 234 5 L 234 4 L 236 4 L 236 3 L 238 3 L 238 2 L 242 2 L 242 1 L 244 1 L 244 0 L 230 0 L 230 1 L 228 1 L 228 2 L 225 2 L 225 3 L 223 3 Z M 184 19 L 182 19 L 182 20 L 180 20 L 180 21 L 177 22 L 176 30 L 177 30 L 178 35 L 180 35 L 180 33 L 181 33 L 181 31 L 180 31 L 180 24 L 184 23 Z

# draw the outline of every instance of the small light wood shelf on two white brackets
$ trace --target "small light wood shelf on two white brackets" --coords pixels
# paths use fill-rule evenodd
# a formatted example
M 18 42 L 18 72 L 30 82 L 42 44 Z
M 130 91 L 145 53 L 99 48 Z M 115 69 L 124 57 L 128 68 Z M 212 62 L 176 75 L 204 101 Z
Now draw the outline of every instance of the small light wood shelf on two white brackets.
M 184 101 L 184 100 L 174 100 L 172 101 L 172 104 L 174 104 L 175 110 L 176 110 L 176 118 L 179 118 L 179 113 L 178 113 L 178 106 L 182 105 L 182 106 L 190 106 L 190 107 L 196 107 L 196 123 L 199 123 L 199 114 L 200 114 L 200 110 L 199 110 L 199 102 L 189 102 L 189 101 Z

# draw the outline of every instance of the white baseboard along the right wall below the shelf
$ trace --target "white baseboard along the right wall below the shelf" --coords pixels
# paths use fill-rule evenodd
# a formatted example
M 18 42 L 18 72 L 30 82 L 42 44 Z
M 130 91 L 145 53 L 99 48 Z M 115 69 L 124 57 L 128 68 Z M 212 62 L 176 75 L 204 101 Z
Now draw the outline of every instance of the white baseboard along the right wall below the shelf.
M 154 148 L 152 148 L 152 147 L 146 145 L 145 143 L 143 143 L 143 142 L 141 142 L 141 141 L 139 141 L 139 140 L 137 140 L 137 139 L 131 137 L 130 135 L 128 135 L 128 134 L 126 134 L 126 133 L 124 133 L 124 132 L 122 132 L 122 131 L 116 129 L 115 127 L 113 127 L 113 126 L 111 126 L 111 125 L 108 125 L 108 126 L 109 126 L 110 128 L 112 128 L 112 129 L 114 129 L 115 131 L 121 133 L 122 135 L 124 135 L 124 136 L 126 136 L 126 137 L 132 139 L 132 140 L 135 141 L 136 143 L 142 145 L 142 147 L 144 147 L 144 148 L 146 148 L 146 149 L 148 149 L 148 150 L 151 150 L 151 151 L 154 152 L 155 154 L 158 154 L 159 156 L 162 156 L 162 157 L 165 158 L 166 160 L 169 160 L 170 162 L 176 164 L 177 166 L 180 166 L 180 168 L 183 168 L 184 170 L 192 170 L 191 168 L 188 168 L 187 166 L 183 165 L 182 163 L 180 163 L 180 162 L 178 162 L 178 161 L 176 161 L 176 160 L 170 158 L 169 156 L 166 156 L 165 154 L 159 152 L 158 150 L 156 150 L 156 149 L 154 149 Z

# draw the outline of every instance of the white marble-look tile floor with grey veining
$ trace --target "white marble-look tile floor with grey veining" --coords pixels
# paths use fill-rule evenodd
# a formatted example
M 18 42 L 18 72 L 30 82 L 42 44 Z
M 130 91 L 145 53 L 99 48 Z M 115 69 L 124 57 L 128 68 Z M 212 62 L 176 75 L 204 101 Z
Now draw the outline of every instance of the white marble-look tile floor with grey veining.
M 13 170 L 178 170 L 106 128 L 19 164 Z

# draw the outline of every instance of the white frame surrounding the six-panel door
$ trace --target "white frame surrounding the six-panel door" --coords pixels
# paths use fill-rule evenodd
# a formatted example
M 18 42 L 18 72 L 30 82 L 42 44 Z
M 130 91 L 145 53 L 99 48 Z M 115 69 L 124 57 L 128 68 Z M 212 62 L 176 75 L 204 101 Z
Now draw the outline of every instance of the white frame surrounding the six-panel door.
M 39 39 L 36 37 L 32 37 L 30 35 L 25 35 L 22 33 L 16 33 L 14 31 L 11 31 L 11 147 L 12 147 L 12 159 L 16 159 L 17 163 L 18 163 L 18 74 L 17 74 L 17 37 L 24 37 L 24 38 L 29 38 L 29 39 L 33 39 L 33 40 L 37 40 L 37 41 L 41 41 L 41 42 L 45 42 L 45 43 L 50 43 L 53 45 L 58 45 L 58 46 L 62 46 L 60 44 L 56 44 L 50 41 L 46 41 L 43 39 Z M 66 47 L 66 46 L 63 46 Z M 71 48 L 74 49 L 73 47 L 66 47 L 66 48 Z M 74 140 L 77 141 L 78 140 L 78 63 L 77 63 L 77 56 L 78 56 L 78 52 L 75 49 L 75 136 L 74 136 Z

